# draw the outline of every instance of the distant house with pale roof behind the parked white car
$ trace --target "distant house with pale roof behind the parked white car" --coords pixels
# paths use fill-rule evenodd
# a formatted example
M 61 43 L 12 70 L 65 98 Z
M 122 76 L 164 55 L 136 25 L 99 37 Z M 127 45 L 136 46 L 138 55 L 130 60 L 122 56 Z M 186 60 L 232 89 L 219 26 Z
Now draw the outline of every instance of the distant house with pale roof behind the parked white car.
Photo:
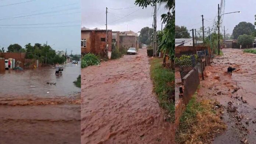
M 120 46 L 125 48 L 135 47 L 138 50 L 138 33 L 135 33 L 133 31 L 120 32 Z

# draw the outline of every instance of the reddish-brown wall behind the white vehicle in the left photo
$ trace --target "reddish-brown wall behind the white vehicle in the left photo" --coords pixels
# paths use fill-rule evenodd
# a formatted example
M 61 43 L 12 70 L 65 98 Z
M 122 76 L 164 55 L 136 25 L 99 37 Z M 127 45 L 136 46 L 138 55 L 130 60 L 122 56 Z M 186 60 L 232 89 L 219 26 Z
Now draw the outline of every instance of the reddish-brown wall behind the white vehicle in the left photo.
M 24 68 L 25 53 L 0 53 L 0 57 L 5 58 L 6 60 L 8 58 L 13 58 L 15 59 L 15 62 L 20 61 L 21 64 L 19 64 L 19 66 Z

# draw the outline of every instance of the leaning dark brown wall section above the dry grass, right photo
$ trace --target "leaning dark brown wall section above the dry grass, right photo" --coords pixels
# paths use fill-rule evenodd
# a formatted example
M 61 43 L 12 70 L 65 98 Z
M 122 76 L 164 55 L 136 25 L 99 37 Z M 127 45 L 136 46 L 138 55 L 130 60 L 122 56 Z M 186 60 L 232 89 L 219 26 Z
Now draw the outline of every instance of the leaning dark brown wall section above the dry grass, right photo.
M 199 81 L 199 73 L 198 68 L 195 67 L 192 69 L 183 79 L 182 83 L 184 85 L 183 90 L 183 100 L 185 105 L 188 104 L 189 100 L 193 96 L 193 94 L 196 92 L 198 85 L 200 84 Z

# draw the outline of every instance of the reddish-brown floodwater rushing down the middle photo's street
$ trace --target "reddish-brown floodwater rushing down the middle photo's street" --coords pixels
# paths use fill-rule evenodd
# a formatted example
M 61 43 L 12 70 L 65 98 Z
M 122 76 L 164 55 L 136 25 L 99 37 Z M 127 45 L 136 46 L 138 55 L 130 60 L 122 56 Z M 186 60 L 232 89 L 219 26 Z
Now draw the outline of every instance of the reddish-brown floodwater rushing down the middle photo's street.
M 174 144 L 149 72 L 146 48 L 82 69 L 82 144 Z

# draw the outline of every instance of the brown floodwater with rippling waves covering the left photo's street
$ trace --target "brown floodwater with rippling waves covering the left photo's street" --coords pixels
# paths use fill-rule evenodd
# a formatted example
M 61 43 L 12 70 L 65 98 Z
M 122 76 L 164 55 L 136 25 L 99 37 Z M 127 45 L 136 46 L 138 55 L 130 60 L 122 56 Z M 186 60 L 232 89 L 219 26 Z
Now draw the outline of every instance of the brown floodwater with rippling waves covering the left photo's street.
M 0 73 L 0 144 L 81 143 L 81 89 L 73 84 L 80 65 L 54 73 L 46 67 Z

